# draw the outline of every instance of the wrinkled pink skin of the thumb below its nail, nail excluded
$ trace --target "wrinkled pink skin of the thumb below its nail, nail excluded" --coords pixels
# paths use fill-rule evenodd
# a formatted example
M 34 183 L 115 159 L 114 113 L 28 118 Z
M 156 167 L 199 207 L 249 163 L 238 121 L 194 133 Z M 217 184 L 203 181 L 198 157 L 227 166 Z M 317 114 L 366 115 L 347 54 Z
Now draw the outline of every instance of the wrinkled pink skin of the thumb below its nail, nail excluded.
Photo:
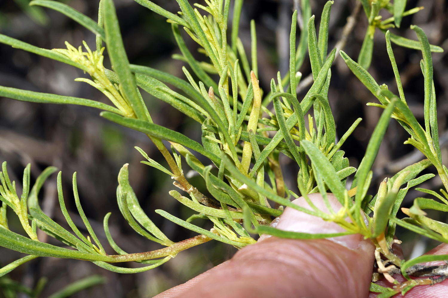
M 176 297 L 364 298 L 370 256 L 327 239 L 271 237 L 241 249 L 226 266 Z

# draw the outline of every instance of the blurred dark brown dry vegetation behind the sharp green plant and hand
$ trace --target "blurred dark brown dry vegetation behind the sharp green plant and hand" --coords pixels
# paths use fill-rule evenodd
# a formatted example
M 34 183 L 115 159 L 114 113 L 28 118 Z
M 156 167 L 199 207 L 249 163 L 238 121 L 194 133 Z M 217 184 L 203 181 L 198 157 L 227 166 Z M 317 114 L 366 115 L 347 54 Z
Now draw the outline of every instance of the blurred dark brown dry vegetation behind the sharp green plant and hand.
M 174 0 L 153 0 L 164 8 L 176 12 Z M 19 2 L 19 1 L 17 1 Z M 96 0 L 65 1 L 82 13 L 96 19 Z M 288 38 L 290 16 L 295 0 L 246 0 L 241 18 L 241 38 L 250 44 L 249 22 L 254 18 L 258 30 L 259 72 L 260 82 L 266 89 L 271 77 L 280 69 L 284 74 L 288 67 Z M 117 13 L 129 60 L 134 64 L 142 64 L 183 76 L 182 62 L 171 59 L 178 53 L 171 35 L 171 29 L 163 17 L 152 13 L 132 0 L 116 0 Z M 319 19 L 324 0 L 311 0 L 313 13 Z M 357 9 L 358 1 L 335 0 L 332 7 L 330 23 L 330 46 L 334 46 L 342 35 L 342 28 L 347 17 Z M 408 8 L 424 6 L 418 14 L 405 17 L 401 29 L 392 29 L 407 38 L 413 38 L 410 24 L 421 26 L 432 44 L 442 46 L 445 53 L 433 55 L 435 88 L 439 105 L 439 128 L 442 152 L 448 156 L 448 18 L 445 0 L 409 0 Z M 75 24 L 60 13 L 46 10 L 49 22 L 37 25 L 18 6 L 14 0 L 0 1 L 0 33 L 9 35 L 33 45 L 44 48 L 64 47 L 64 41 L 77 46 L 85 40 L 94 44 L 95 36 Z M 361 48 L 366 30 L 366 17 L 363 12 L 356 14 L 353 33 L 348 36 L 344 50 L 356 58 Z M 187 39 L 188 40 L 188 39 Z M 190 42 L 190 46 L 194 46 Z M 422 117 L 423 111 L 423 78 L 419 67 L 421 54 L 393 46 L 401 79 L 405 88 L 406 99 L 416 116 Z M 309 64 L 301 69 L 304 77 L 310 73 Z M 384 35 L 375 35 L 373 63 L 369 71 L 379 81 L 386 83 L 396 91 L 390 67 Z M 29 89 L 39 92 L 57 93 L 74 97 L 91 99 L 105 97 L 87 84 L 74 82 L 82 76 L 81 71 L 62 63 L 31 55 L 22 50 L 0 45 L 0 85 Z M 158 124 L 174 130 L 182 131 L 198 139 L 197 123 L 183 117 L 177 110 L 145 95 L 151 116 Z M 342 59 L 336 59 L 332 71 L 332 82 L 329 92 L 330 105 L 335 114 L 337 132 L 343 134 L 353 121 L 362 117 L 358 129 L 345 143 L 343 149 L 350 159 L 350 164 L 357 167 L 364 154 L 369 136 L 375 126 L 380 110 L 366 107 L 366 103 L 374 101 L 374 97 L 349 72 Z M 407 138 L 405 131 L 396 122 L 391 122 L 386 139 L 383 142 L 375 164 L 375 187 L 385 176 L 392 176 L 408 164 L 422 159 L 411 146 L 402 145 Z M 162 227 L 166 235 L 173 240 L 181 240 L 191 236 L 191 232 L 164 220 L 153 212 L 155 209 L 168 210 L 170 213 L 187 217 L 190 210 L 182 208 L 168 190 L 172 189 L 172 181 L 167 175 L 153 168 L 139 164 L 142 156 L 134 150 L 134 146 L 142 147 L 148 154 L 163 163 L 158 151 L 150 144 L 144 134 L 129 130 L 107 122 L 98 116 L 98 111 L 86 107 L 68 105 L 42 105 L 13 101 L 0 98 L 0 161 L 7 160 L 10 175 L 17 182 L 21 179 L 21 171 L 27 163 L 32 164 L 32 176 L 49 165 L 55 165 L 63 172 L 65 200 L 68 207 L 74 210 L 73 197 L 70 192 L 71 175 L 78 172 L 78 189 L 81 201 L 90 222 L 96 227 L 97 234 L 103 237 L 104 215 L 112 211 L 111 231 L 117 243 L 126 251 L 141 252 L 154 249 L 149 241 L 132 231 L 121 217 L 116 205 L 116 176 L 125 163 L 130 164 L 130 181 L 142 207 L 151 218 Z M 288 162 L 288 159 L 284 159 Z M 294 184 L 295 177 L 288 174 L 285 165 L 285 176 Z M 19 179 L 17 179 L 19 178 Z M 193 178 L 194 179 L 194 178 Z M 439 189 L 439 181 L 432 179 L 422 185 L 429 189 Z M 405 205 L 409 205 L 418 193 L 410 191 Z M 57 206 L 56 175 L 45 185 L 40 196 L 44 211 L 62 222 L 63 216 Z M 76 214 L 72 214 L 76 219 Z M 447 218 L 436 218 L 447 222 Z M 78 218 L 78 222 L 81 219 Z M 76 220 L 75 220 L 76 222 Z M 14 228 L 14 219 L 10 225 Z M 82 224 L 79 225 L 80 227 Z M 42 237 L 42 235 L 41 235 Z M 405 241 L 406 256 L 422 253 L 434 245 L 420 236 L 398 230 L 398 237 Z M 52 242 L 53 239 L 48 239 Z M 0 248 L 2 264 L 19 257 L 18 253 Z M 163 266 L 135 275 L 110 273 L 90 262 L 78 260 L 60 260 L 39 258 L 19 267 L 10 277 L 26 285 L 33 285 L 39 277 L 48 277 L 49 283 L 42 297 L 52 293 L 71 281 L 99 273 L 107 278 L 105 285 L 85 290 L 73 297 L 152 297 L 171 286 L 194 277 L 198 273 L 211 268 L 228 259 L 234 249 L 222 243 L 212 242 L 182 252 L 174 260 Z M 1 295 L 1 294 L 0 294 Z

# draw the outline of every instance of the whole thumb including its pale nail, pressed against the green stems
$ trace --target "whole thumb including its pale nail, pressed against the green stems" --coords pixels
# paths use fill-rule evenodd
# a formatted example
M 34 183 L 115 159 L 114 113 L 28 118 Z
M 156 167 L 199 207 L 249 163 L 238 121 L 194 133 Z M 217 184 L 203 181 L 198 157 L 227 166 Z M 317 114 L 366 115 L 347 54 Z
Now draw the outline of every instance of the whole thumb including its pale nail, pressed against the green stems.
M 320 194 L 309 197 L 319 209 L 327 210 Z M 332 194 L 327 197 L 337 212 L 339 201 Z M 293 203 L 309 208 L 302 197 Z M 344 231 L 334 222 L 289 207 L 274 222 L 287 231 Z M 369 293 L 373 252 L 373 244 L 361 235 L 314 240 L 263 235 L 227 262 L 156 298 L 364 298 Z

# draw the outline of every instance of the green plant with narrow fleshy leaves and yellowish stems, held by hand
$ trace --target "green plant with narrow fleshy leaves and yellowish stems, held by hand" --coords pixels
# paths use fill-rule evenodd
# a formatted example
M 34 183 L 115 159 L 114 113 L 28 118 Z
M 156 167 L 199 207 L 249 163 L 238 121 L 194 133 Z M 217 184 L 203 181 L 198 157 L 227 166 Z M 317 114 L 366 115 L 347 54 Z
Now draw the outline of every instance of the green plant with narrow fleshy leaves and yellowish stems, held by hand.
M 75 104 L 101 109 L 101 117 L 121 126 L 142 132 L 155 144 L 164 156 L 166 164 L 151 159 L 142 149 L 136 149 L 147 164 L 171 176 L 178 190 L 171 190 L 170 196 L 194 211 L 190 218 L 181 219 L 163 210 L 156 213 L 199 235 L 174 243 L 155 226 L 144 213 L 129 183 L 128 165 L 125 164 L 118 175 L 116 191 L 117 204 L 129 226 L 139 235 L 164 246 L 156 251 L 127 253 L 114 241 L 108 228 L 111 214 L 104 217 L 104 233 L 116 255 L 108 255 L 86 218 L 73 175 L 73 197 L 85 230 L 84 235 L 73 223 L 65 207 L 62 195 L 61 173 L 58 175 L 58 194 L 62 213 L 72 232 L 60 226 L 43 214 L 39 208 L 37 195 L 43 180 L 56 171 L 47 169 L 36 180 L 29 191 L 30 170 L 25 169 L 22 195 L 19 198 L 14 182 L 9 180 L 6 164 L 0 175 L 3 205 L 0 209 L 0 245 L 28 256 L 19 259 L 3 269 L 5 274 L 38 256 L 56 256 L 89 260 L 105 269 L 136 273 L 163 264 L 178 252 L 211 239 L 242 248 L 255 243 L 258 235 L 271 234 L 293 239 L 316 239 L 348 234 L 362 234 L 371 239 L 378 256 L 381 253 L 395 266 L 400 267 L 405 276 L 406 269 L 417 261 L 402 262 L 391 252 L 396 225 L 400 225 L 441 242 L 447 242 L 446 224 L 426 217 L 424 209 L 446 211 L 448 196 L 422 190 L 437 197 L 435 200 L 418 198 L 409 210 L 403 210 L 409 218 L 397 219 L 401 202 L 410 188 L 434 177 L 434 174 L 420 173 L 435 166 L 438 175 L 448 186 L 447 168 L 442 164 L 437 128 L 435 88 L 432 79 L 431 51 L 440 48 L 431 46 L 423 31 L 411 27 L 417 33 L 418 41 L 398 37 L 385 32 L 389 58 L 396 76 L 399 96 L 390 92 L 387 86 L 379 86 L 366 71 L 370 65 L 375 28 L 386 30 L 400 25 L 401 18 L 415 13 L 419 8 L 405 11 L 406 1 L 388 0 L 367 1 L 362 5 L 369 17 L 366 33 L 358 63 L 340 51 L 351 71 L 378 99 L 370 104 L 384 109 L 372 133 L 364 158 L 358 169 L 351 167 L 341 150 L 359 118 L 340 138 L 336 135 L 328 88 L 332 76 L 332 63 L 336 49 L 328 51 L 328 24 L 333 1 L 323 7 L 319 31 L 316 32 L 315 17 L 311 15 L 310 1 L 301 1 L 301 13 L 293 13 L 289 40 L 289 72 L 277 73 L 272 78 L 268 90 L 259 85 L 258 51 L 256 25 L 251 22 L 250 50 L 246 50 L 238 35 L 242 0 L 236 0 L 233 8 L 233 25 L 228 29 L 230 0 L 205 0 L 205 4 L 194 4 L 187 0 L 177 0 L 181 11 L 168 12 L 149 0 L 135 0 L 138 4 L 167 18 L 172 34 L 181 54 L 174 59 L 185 62 L 182 67 L 184 77 L 172 76 L 151 67 L 130 64 L 121 38 L 120 26 L 112 0 L 101 0 L 98 22 L 84 16 L 66 4 L 52 0 L 33 0 L 31 5 L 43 6 L 59 11 L 72 18 L 96 35 L 96 50 L 91 50 L 86 42 L 83 47 L 71 46 L 67 49 L 47 50 L 0 34 L 0 42 L 78 67 L 90 78 L 77 81 L 90 84 L 108 98 L 110 104 L 83 98 L 66 97 L 56 94 L 32 92 L 0 86 L 0 95 L 19 101 L 40 103 Z M 394 17 L 381 21 L 379 11 L 387 9 Z M 297 19 L 304 24 L 297 42 Z M 228 33 L 230 37 L 228 38 Z M 196 50 L 202 61 L 187 48 L 184 37 L 196 43 Z M 230 40 L 230 42 L 228 42 Z M 391 42 L 422 51 L 421 63 L 424 82 L 424 126 L 420 125 L 405 101 L 400 76 L 393 56 Z M 104 47 L 103 47 L 104 45 Z M 83 48 L 85 50 L 83 50 Z M 103 53 L 108 52 L 112 69 L 103 66 Z M 299 98 L 297 85 L 302 74 L 298 71 L 306 55 L 309 56 L 313 84 L 305 96 Z M 200 141 L 153 122 L 151 109 L 148 109 L 141 92 L 171 105 L 185 116 L 198 122 Z M 426 156 L 426 159 L 412 164 L 395 176 L 385 179 L 378 192 L 369 194 L 373 177 L 372 166 L 380 144 L 386 134 L 390 118 L 396 119 L 409 132 L 405 143 L 411 144 Z M 167 146 L 167 144 L 169 144 Z M 297 185 L 290 189 L 283 179 L 280 155 L 285 155 L 297 165 Z M 202 177 L 206 192 L 191 185 L 184 174 L 184 168 Z M 348 177 L 353 175 L 353 183 L 347 189 Z M 317 208 L 308 194 L 321 193 L 328 212 Z M 342 206 L 333 210 L 327 198 L 333 193 Z M 290 201 L 291 197 L 303 197 L 308 207 L 301 207 Z M 6 221 L 7 206 L 19 217 L 28 237 L 9 231 Z M 337 234 L 308 234 L 280 231 L 269 224 L 274 217 L 282 214 L 284 207 L 290 207 L 307 214 L 336 222 L 345 229 Z M 206 218 L 209 227 L 199 227 L 193 222 Z M 39 242 L 36 230 L 46 232 L 71 249 Z M 376 256 L 376 254 L 375 254 Z M 139 268 L 116 267 L 112 263 L 136 261 L 145 264 Z M 380 269 L 384 267 L 379 257 Z M 403 264 L 402 264 L 403 263 Z M 382 267 L 381 267 L 382 266 Z M 384 271 L 388 274 L 388 271 Z M 378 289 L 377 289 L 378 290 Z M 381 290 L 381 289 L 380 289 Z M 386 297 L 386 296 L 384 296 Z

